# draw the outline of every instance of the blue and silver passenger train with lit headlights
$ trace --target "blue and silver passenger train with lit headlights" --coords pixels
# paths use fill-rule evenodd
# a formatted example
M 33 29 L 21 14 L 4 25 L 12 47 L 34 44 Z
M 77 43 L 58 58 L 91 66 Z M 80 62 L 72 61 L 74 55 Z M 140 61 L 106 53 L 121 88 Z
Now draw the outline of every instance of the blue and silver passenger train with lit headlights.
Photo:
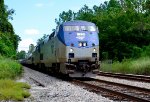
M 98 33 L 92 22 L 64 22 L 23 63 L 69 77 L 95 76 L 100 66 Z

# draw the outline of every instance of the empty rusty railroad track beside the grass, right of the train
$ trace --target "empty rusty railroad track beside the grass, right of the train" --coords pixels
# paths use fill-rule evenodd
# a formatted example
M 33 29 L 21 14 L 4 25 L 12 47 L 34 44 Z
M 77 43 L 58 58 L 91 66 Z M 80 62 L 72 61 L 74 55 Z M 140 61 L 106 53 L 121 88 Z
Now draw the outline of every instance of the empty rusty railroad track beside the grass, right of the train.
M 144 76 L 144 75 L 108 73 L 108 72 L 99 72 L 98 75 L 150 83 L 150 76 Z

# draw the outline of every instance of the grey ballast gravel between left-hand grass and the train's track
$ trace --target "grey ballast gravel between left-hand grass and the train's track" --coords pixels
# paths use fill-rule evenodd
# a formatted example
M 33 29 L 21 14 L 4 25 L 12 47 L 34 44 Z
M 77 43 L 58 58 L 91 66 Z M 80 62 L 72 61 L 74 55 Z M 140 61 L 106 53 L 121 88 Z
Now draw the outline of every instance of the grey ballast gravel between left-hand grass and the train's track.
M 42 83 L 45 87 L 38 86 L 31 78 Z M 24 67 L 24 75 L 19 81 L 31 85 L 31 96 L 24 102 L 113 102 L 82 87 L 27 67 Z

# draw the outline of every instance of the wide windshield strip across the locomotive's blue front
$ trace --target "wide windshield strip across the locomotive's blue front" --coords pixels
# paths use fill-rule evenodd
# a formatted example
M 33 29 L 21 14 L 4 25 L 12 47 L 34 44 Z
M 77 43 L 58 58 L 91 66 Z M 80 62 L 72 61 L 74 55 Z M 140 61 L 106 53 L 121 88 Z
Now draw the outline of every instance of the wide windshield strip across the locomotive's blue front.
M 64 26 L 64 31 L 96 31 L 95 26 Z

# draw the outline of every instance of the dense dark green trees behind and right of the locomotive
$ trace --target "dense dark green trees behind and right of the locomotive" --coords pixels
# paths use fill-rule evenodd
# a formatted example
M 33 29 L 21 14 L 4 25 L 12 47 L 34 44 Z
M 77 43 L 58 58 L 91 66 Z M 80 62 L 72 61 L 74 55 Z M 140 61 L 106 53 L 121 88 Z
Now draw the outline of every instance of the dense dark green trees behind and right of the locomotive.
M 150 56 L 150 0 L 110 0 L 78 12 L 63 11 L 55 22 L 94 22 L 99 30 L 102 59 Z

